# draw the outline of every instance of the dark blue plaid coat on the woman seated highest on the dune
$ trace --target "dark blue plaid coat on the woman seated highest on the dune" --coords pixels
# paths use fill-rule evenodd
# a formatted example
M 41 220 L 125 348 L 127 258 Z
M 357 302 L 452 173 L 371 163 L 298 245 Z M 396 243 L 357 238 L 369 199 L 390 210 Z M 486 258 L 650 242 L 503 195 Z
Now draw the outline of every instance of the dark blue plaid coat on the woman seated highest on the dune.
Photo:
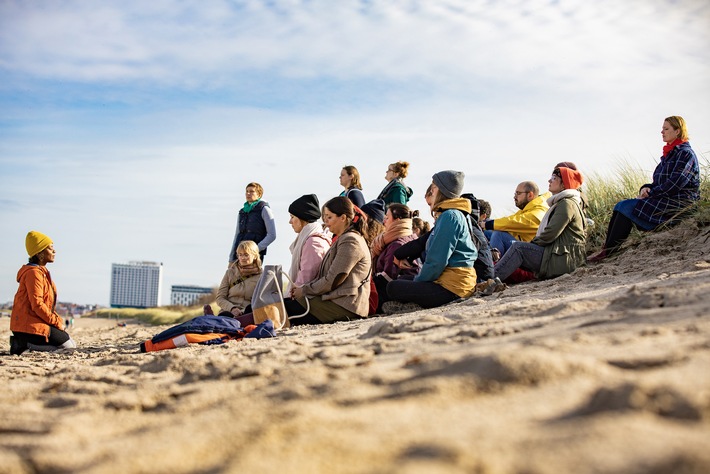
M 649 197 L 639 199 L 635 216 L 660 225 L 700 199 L 700 167 L 690 143 L 684 142 L 661 158 L 653 171 Z

